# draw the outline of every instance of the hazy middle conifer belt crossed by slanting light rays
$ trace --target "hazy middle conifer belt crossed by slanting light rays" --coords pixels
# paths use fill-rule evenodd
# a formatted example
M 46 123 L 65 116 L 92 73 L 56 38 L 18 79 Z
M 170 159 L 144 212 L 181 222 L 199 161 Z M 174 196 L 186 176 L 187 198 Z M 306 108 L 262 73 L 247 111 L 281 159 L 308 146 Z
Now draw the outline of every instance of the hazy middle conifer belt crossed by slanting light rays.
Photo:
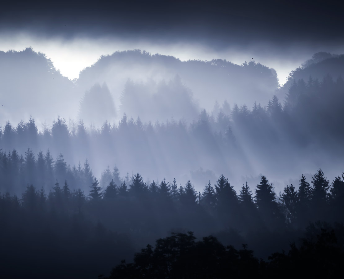
M 299 80 L 289 88 L 283 106 L 276 96 L 266 107 L 255 103 L 251 110 L 216 103 L 211 113 L 203 110 L 191 123 L 171 119 L 144 124 L 140 118 L 123 115 L 118 125 L 105 122 L 98 129 L 88 129 L 81 120 L 67 123 L 57 117 L 51 127 L 39 131 L 30 118 L 15 127 L 7 122 L 1 129 L 0 146 L 3 152 L 16 149 L 20 154 L 28 147 L 34 153 L 49 149 L 54 159 L 63 153 L 72 166 L 88 158 L 96 173 L 117 164 L 124 173 L 140 170 L 150 179 L 181 179 L 192 171 L 191 179 L 203 184 L 210 177 L 200 179 L 197 170 L 213 172 L 214 182 L 221 173 L 245 175 L 244 169 L 255 173 L 256 163 L 259 171 L 282 176 L 287 167 L 297 170 L 309 161 L 319 165 L 342 157 L 344 134 L 338 127 L 344 117 L 343 92 L 340 77 Z M 297 160 L 286 160 L 290 157 Z M 273 163 L 265 158 L 273 158 Z

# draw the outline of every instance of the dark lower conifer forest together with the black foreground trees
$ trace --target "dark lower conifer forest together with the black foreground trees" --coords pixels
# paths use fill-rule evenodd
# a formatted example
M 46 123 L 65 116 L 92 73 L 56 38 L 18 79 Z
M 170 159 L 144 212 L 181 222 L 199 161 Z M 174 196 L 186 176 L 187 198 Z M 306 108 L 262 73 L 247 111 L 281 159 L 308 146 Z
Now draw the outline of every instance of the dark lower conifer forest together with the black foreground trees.
M 21 196 L 1 196 L 5 277 L 96 278 L 120 260 L 131 261 L 139 247 L 157 238 L 154 250 L 148 245 L 136 253 L 134 264 L 122 261 L 110 278 L 224 278 L 228 272 L 265 278 L 281 269 L 292 274 L 303 258 L 319 261 L 325 275 L 334 274 L 343 259 L 344 173 L 330 182 L 319 169 L 311 183 L 302 175 L 297 188 L 287 185 L 279 195 L 265 176 L 252 190 L 246 183 L 237 193 L 221 175 L 197 193 L 190 180 L 148 185 L 139 173 L 127 184 L 116 168 L 101 187 L 87 161 L 66 171 L 63 155 L 53 162 L 49 152 L 37 161 L 26 153 L 18 169 L 20 161 L 15 150 L 9 157 L 2 154 L 7 176 L 1 177 L 7 183 L 35 170 L 40 179 L 37 187 L 27 184 Z M 68 181 L 59 182 L 55 177 L 63 171 Z M 42 183 L 50 190 L 38 188 Z M 89 186 L 83 191 L 72 185 Z M 196 236 L 203 240 L 196 242 Z

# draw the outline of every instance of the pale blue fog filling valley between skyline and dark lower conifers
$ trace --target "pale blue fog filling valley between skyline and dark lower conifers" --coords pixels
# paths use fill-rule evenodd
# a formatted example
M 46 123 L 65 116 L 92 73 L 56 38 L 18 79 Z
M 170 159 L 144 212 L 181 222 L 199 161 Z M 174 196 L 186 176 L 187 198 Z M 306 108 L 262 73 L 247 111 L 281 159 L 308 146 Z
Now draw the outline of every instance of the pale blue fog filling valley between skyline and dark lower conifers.
M 281 191 L 292 177 L 312 173 L 319 164 L 332 176 L 343 168 L 334 121 L 340 111 L 333 111 L 342 98 L 336 95 L 341 90 L 336 79 L 343 75 L 340 55 L 315 54 L 291 71 L 282 87 L 274 69 L 255 61 L 181 61 L 140 50 L 101 56 L 73 81 L 30 48 L 2 52 L 1 61 L 3 137 L 7 121 L 18 134 L 24 128 L 17 124 L 23 120 L 23 126 L 30 116 L 39 131 L 34 143 L 7 141 L 4 151 L 49 149 L 53 158 L 62 152 L 71 167 L 88 159 L 98 177 L 116 165 L 122 178 L 136 172 L 147 181 L 190 178 L 196 190 L 224 173 L 235 189 L 246 181 L 256 184 L 265 174 Z M 312 107 L 301 109 L 295 103 L 300 99 L 288 97 L 292 84 L 303 79 L 300 93 L 294 94 L 311 94 L 307 98 L 312 99 L 310 77 L 317 81 L 314 88 L 333 91 L 328 108 L 314 99 Z M 326 77 L 338 89 L 323 81 Z M 271 112 L 271 101 L 277 114 Z M 325 136 L 312 130 L 315 120 L 304 111 L 324 111 Z M 57 119 L 66 121 L 66 138 L 59 140 L 52 132 Z

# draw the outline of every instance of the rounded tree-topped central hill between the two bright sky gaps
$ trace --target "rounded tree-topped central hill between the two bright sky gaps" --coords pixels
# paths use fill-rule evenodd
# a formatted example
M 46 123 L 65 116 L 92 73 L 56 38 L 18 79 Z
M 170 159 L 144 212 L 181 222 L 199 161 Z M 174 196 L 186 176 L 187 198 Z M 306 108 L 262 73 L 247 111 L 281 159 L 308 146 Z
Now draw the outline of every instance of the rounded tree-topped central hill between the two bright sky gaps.
M 139 83 L 149 79 L 160 82 L 175 75 L 180 76 L 200 106 L 206 109 L 211 109 L 216 99 L 220 103 L 227 99 L 230 104 L 255 100 L 266 103 L 278 88 L 276 71 L 254 61 L 242 65 L 222 59 L 183 62 L 173 56 L 140 50 L 102 56 L 80 72 L 77 84 L 86 90 L 95 83 L 106 82 L 116 101 L 128 78 Z

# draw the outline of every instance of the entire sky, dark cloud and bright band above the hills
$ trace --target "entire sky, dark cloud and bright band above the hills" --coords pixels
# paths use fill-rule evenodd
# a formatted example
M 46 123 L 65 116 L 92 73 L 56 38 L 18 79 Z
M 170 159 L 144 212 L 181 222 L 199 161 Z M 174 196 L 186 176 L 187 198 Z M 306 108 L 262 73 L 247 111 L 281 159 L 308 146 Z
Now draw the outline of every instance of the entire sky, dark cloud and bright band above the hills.
M 0 50 L 31 46 L 70 79 L 101 55 L 128 49 L 181 60 L 253 59 L 276 69 L 284 84 L 314 53 L 344 53 L 338 2 L 7 2 L 0 9 Z

